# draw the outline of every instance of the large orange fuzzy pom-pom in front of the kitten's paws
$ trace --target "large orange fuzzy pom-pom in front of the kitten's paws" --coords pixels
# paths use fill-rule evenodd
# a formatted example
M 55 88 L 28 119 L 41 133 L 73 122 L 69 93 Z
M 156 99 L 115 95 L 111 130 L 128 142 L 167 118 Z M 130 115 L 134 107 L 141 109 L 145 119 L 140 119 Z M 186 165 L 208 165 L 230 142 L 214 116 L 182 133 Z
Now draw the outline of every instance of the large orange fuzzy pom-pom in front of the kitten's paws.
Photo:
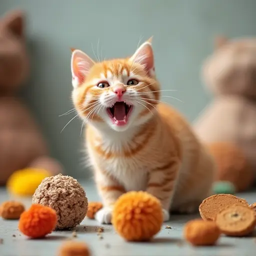
M 127 192 L 115 202 L 111 222 L 117 233 L 127 241 L 149 240 L 161 228 L 161 204 L 147 192 Z

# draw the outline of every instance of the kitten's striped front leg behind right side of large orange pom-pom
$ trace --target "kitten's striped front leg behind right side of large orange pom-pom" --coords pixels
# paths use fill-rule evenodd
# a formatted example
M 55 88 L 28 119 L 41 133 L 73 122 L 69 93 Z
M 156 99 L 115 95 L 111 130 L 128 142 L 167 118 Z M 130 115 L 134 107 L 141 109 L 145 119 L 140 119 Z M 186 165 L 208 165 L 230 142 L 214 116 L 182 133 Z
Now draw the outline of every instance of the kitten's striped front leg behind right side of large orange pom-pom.
M 146 191 L 160 200 L 163 221 L 169 220 L 170 204 L 179 166 L 179 162 L 175 159 L 169 161 L 162 167 L 151 170 L 149 173 Z

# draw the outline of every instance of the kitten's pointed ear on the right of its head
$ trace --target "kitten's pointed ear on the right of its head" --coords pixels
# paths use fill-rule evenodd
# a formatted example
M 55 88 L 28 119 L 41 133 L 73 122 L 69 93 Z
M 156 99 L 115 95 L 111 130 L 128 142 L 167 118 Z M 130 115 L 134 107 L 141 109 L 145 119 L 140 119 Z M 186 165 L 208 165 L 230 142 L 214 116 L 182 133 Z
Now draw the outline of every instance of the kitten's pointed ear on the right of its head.
M 130 57 L 132 62 L 141 64 L 150 76 L 154 74 L 154 55 L 151 41 L 152 37 L 142 43 Z

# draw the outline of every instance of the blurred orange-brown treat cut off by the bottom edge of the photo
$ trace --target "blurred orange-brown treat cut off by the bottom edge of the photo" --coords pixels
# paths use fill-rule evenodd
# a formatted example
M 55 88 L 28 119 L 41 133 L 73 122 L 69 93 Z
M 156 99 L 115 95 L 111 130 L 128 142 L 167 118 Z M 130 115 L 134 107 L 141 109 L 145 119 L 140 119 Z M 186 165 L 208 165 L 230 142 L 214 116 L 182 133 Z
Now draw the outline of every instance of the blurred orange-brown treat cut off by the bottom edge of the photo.
M 66 241 L 58 252 L 58 256 L 89 256 L 90 250 L 88 246 L 81 241 Z

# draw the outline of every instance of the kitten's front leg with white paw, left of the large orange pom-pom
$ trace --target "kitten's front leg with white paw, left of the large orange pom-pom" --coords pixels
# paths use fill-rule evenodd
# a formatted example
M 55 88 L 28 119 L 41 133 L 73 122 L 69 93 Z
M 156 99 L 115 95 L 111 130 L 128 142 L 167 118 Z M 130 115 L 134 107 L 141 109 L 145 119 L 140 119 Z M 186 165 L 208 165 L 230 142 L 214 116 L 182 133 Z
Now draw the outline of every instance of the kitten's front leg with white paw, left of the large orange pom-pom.
M 104 207 L 97 211 L 95 219 L 101 224 L 110 224 L 112 217 L 112 206 L 116 199 L 125 189 L 108 172 L 99 168 L 95 169 L 95 183 Z

